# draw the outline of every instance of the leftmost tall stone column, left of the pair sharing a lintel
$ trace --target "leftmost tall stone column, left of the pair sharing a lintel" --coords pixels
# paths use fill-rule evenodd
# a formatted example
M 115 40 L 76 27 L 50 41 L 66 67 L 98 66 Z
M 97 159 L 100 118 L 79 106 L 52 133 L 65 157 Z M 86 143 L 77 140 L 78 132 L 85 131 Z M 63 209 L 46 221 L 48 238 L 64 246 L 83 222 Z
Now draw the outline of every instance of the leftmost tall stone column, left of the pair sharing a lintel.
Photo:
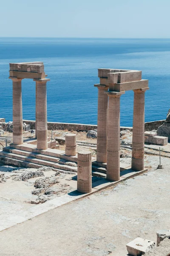
M 23 144 L 23 107 L 21 78 L 9 77 L 13 81 L 13 144 Z

